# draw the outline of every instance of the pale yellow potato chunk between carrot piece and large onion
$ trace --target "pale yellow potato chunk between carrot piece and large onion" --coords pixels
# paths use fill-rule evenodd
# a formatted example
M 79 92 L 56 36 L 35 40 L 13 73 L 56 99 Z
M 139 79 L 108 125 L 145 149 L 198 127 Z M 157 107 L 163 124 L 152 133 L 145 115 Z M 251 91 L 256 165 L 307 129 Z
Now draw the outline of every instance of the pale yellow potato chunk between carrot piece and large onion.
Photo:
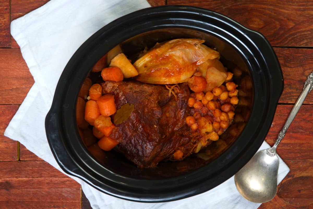
M 130 78 L 138 75 L 136 68 L 131 64 L 131 62 L 123 53 L 116 55 L 111 60 L 110 67 L 120 68 L 124 78 Z

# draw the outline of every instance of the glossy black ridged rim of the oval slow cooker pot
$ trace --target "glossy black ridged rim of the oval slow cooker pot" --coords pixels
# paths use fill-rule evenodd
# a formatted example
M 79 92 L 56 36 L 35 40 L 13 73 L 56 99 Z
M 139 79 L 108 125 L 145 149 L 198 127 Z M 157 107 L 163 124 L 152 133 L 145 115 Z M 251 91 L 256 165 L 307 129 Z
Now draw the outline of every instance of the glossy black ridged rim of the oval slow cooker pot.
M 81 142 L 75 126 L 75 98 L 88 74 L 86 69 L 91 69 L 103 54 L 136 34 L 161 28 L 201 30 L 233 45 L 253 71 L 254 103 L 250 119 L 241 135 L 213 162 L 186 175 L 170 179 L 138 180 L 100 168 L 100 163 L 92 158 Z M 125 31 L 124 34 L 121 31 Z M 118 34 L 114 41 L 109 35 L 112 32 Z M 104 37 L 109 38 L 104 40 Z M 100 48 L 105 49 L 102 54 L 97 50 Z M 74 53 L 56 87 L 52 106 L 45 120 L 46 134 L 52 153 L 64 172 L 79 177 L 96 189 L 131 201 L 173 201 L 214 188 L 233 176 L 251 159 L 265 139 L 282 91 L 283 76 L 278 59 L 262 34 L 219 13 L 202 8 L 146 8 L 104 26 Z M 260 111 L 263 111 L 262 115 Z

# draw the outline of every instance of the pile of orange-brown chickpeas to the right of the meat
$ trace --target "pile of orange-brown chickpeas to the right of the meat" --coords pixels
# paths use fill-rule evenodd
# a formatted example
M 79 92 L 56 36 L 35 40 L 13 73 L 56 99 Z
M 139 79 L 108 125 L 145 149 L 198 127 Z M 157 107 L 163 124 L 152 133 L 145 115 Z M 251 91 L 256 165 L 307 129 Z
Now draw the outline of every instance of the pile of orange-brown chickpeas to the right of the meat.
M 237 85 L 231 81 L 232 77 L 233 74 L 227 72 L 224 85 L 214 87 L 212 91 L 194 92 L 188 98 L 192 115 L 186 117 L 186 123 L 193 131 L 198 130 L 206 138 L 205 141 L 217 141 L 234 118 L 234 106 L 239 99 Z M 206 144 L 205 141 L 202 146 Z

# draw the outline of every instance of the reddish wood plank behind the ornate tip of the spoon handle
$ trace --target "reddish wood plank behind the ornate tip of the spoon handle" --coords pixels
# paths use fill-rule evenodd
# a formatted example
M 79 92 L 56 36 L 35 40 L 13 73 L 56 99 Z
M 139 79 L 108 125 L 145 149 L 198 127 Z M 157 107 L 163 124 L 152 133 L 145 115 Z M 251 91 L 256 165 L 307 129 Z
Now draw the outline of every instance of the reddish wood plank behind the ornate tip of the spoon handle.
M 295 103 L 306 77 L 313 70 L 313 49 L 274 48 L 284 76 L 284 91 L 280 103 Z M 308 94 L 305 104 L 313 104 L 313 95 Z

